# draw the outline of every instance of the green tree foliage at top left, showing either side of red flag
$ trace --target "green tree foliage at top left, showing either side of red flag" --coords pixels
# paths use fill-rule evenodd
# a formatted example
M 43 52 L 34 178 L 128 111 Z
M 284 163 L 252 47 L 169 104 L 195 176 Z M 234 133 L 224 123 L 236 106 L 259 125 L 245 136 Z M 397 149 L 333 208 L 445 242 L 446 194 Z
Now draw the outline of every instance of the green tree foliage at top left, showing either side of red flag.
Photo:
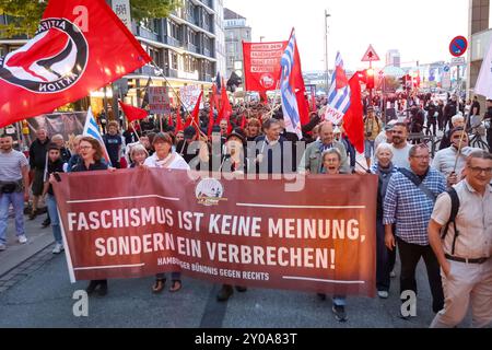
M 0 15 L 8 15 L 8 24 L 0 25 L 0 37 L 32 37 L 37 30 L 46 0 L 0 0 Z M 162 19 L 178 9 L 181 0 L 130 0 L 131 15 L 137 22 L 143 19 Z

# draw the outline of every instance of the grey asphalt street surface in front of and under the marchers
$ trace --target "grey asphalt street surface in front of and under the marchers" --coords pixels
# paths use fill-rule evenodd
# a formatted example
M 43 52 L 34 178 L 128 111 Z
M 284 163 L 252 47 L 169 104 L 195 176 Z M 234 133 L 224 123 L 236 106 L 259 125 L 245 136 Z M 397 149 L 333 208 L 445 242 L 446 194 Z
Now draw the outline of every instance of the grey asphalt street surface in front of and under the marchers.
M 425 328 L 433 318 L 422 262 L 417 272 L 418 316 L 409 320 L 399 318 L 398 277 L 388 300 L 349 298 L 344 324 L 332 316 L 331 301 L 323 302 L 315 294 L 248 290 L 218 303 L 220 285 L 186 277 L 180 292 L 172 294 L 166 289 L 161 295 L 151 293 L 152 277 L 110 280 L 106 298 L 90 299 L 89 317 L 75 317 L 72 295 L 86 282 L 70 283 L 65 255 L 51 254 L 51 231 L 40 229 L 43 220 L 44 215 L 27 221 L 32 238 L 27 245 L 12 242 L 0 253 L 0 267 L 17 264 L 0 275 L 0 327 Z M 13 232 L 11 225 L 8 236 Z M 19 260 L 27 253 L 30 258 Z

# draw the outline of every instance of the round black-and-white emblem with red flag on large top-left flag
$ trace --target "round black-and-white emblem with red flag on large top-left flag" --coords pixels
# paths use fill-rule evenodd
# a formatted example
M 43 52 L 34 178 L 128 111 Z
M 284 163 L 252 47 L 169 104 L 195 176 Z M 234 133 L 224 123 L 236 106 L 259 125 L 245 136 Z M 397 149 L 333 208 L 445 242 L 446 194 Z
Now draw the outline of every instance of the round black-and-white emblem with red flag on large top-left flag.
M 0 59 L 0 79 L 35 93 L 75 84 L 89 59 L 82 32 L 67 19 L 45 19 L 27 44 Z

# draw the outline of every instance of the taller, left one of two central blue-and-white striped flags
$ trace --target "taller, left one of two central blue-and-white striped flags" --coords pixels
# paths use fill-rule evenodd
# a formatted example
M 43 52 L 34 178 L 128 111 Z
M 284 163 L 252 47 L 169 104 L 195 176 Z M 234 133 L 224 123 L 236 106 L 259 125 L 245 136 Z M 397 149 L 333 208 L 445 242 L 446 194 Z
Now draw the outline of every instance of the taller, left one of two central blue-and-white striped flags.
M 301 140 L 303 131 L 301 128 L 301 115 L 298 112 L 297 98 L 295 95 L 295 86 L 292 85 L 291 77 L 295 65 L 295 31 L 292 30 L 292 35 L 285 51 L 282 55 L 280 66 L 282 67 L 282 75 L 280 79 L 280 94 L 282 97 L 283 120 L 285 121 L 285 130 L 288 132 L 295 132 Z

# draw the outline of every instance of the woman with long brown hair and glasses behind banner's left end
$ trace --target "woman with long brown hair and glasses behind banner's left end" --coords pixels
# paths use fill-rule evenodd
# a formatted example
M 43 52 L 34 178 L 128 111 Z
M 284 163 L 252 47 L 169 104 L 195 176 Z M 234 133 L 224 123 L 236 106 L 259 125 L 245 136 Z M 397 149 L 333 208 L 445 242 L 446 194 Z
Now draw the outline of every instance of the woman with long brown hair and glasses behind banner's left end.
M 80 162 L 72 167 L 72 173 L 108 170 L 107 164 L 103 162 L 103 148 L 96 139 L 82 138 L 79 143 L 79 155 Z M 107 280 L 93 280 L 85 291 L 87 294 L 92 294 L 97 288 L 99 296 L 105 296 L 107 294 Z

